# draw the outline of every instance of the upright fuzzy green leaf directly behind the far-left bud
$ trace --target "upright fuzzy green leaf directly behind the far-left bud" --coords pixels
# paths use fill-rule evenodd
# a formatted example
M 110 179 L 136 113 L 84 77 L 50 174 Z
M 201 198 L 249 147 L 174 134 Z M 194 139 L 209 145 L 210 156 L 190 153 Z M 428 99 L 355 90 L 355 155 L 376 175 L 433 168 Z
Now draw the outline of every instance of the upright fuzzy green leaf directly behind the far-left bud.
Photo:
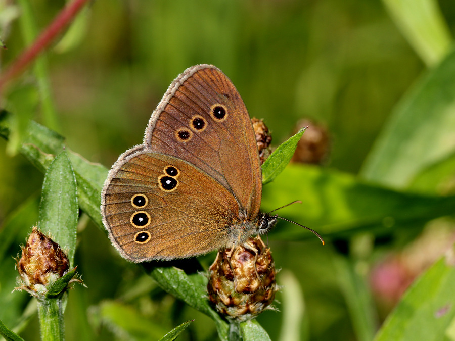
M 77 185 L 66 151 L 55 157 L 44 176 L 38 227 L 57 242 L 73 264 L 79 216 Z

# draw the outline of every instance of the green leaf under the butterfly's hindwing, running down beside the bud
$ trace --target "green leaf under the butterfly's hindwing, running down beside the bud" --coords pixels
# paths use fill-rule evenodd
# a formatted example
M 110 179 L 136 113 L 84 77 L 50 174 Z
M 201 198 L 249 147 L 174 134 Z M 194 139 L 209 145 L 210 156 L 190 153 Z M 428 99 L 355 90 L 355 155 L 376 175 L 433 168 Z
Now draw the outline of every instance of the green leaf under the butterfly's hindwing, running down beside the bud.
M 223 341 L 228 339 L 228 324 L 209 304 L 205 276 L 200 274 L 188 276 L 183 270 L 175 267 L 154 268 L 150 275 L 169 294 L 211 317 L 215 321 L 218 337 Z

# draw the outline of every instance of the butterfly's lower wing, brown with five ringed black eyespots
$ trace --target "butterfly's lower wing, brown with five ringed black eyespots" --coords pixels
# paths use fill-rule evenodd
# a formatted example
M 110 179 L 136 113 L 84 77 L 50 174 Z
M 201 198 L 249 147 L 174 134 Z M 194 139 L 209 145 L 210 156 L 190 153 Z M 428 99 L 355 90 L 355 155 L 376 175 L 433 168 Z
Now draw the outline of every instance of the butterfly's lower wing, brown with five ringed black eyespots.
M 136 148 L 111 170 L 102 210 L 114 246 L 140 262 L 191 257 L 229 244 L 228 225 L 238 205 L 191 164 Z

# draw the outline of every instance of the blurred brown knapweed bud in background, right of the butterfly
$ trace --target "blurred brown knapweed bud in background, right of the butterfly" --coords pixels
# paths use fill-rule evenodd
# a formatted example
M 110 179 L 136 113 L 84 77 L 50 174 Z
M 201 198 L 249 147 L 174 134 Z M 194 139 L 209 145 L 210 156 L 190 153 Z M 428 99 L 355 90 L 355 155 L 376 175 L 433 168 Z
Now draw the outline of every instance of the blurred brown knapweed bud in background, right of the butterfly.
M 326 128 L 310 120 L 301 120 L 297 123 L 295 132 L 300 128 L 308 127 L 302 135 L 291 159 L 292 162 L 321 164 L 326 160 L 330 149 L 330 138 Z

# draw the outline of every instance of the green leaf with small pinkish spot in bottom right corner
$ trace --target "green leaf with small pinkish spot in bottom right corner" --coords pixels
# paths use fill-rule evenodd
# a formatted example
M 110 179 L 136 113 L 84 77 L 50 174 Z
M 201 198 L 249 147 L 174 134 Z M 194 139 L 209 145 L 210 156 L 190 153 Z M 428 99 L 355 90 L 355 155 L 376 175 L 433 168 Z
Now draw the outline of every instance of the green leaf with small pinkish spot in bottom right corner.
M 398 303 L 376 335 L 375 341 L 438 341 L 455 318 L 455 267 L 441 259 L 428 269 Z

